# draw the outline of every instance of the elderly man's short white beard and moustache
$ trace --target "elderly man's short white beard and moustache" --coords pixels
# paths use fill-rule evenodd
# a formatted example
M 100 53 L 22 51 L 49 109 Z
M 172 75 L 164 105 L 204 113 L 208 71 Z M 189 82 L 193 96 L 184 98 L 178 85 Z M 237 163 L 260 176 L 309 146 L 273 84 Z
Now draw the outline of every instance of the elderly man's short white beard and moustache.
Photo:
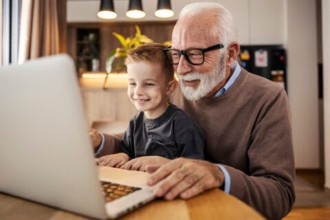
M 219 83 L 225 79 L 225 56 L 220 58 L 220 62 L 210 72 L 203 74 L 199 72 L 191 72 L 184 76 L 177 74 L 177 77 L 179 78 L 182 94 L 184 94 L 188 100 L 199 100 L 200 98 L 207 96 L 214 87 L 219 85 Z M 200 83 L 197 88 L 188 87 L 184 85 L 183 80 L 200 80 Z

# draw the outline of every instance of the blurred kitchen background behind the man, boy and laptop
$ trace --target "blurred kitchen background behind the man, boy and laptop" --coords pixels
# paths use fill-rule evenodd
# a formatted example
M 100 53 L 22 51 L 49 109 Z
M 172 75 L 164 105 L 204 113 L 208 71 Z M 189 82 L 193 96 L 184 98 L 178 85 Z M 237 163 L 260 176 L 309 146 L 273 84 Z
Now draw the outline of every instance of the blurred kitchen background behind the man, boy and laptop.
M 69 54 L 76 64 L 89 126 L 108 132 L 123 129 L 135 113 L 126 98 L 121 66 L 125 50 L 148 41 L 170 45 L 179 11 L 198 1 L 168 2 L 170 8 L 159 8 L 168 3 L 157 0 L 3 0 L 1 65 Z M 329 1 L 212 2 L 221 3 L 234 15 L 242 67 L 285 87 L 292 108 L 298 172 L 307 172 L 311 181 L 317 179 L 318 185 L 330 188 Z M 157 17 L 159 9 L 173 13 Z M 100 18 L 102 10 L 115 18 Z M 128 17 L 129 10 L 142 11 L 142 18 Z

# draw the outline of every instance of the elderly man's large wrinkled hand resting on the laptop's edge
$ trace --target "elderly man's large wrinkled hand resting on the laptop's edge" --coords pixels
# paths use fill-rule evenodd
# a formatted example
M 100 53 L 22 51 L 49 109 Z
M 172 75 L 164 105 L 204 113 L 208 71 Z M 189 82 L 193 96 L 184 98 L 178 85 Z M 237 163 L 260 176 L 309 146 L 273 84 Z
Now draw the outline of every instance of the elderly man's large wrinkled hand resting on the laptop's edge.
M 189 199 L 210 188 L 219 188 L 223 184 L 223 173 L 220 168 L 210 162 L 177 158 L 163 166 L 146 166 L 148 185 L 153 186 L 164 179 L 154 190 L 157 197 L 166 200 Z

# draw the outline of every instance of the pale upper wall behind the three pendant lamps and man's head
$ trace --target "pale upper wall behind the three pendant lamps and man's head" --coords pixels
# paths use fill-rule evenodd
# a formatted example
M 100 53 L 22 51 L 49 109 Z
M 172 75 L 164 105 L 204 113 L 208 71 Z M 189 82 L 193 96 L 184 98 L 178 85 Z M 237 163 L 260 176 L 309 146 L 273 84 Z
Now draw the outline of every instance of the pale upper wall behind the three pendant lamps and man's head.
M 221 3 L 228 8 L 236 20 L 241 44 L 283 44 L 285 34 L 283 26 L 283 8 L 285 0 L 208 0 Z M 75 22 L 118 22 L 118 21 L 175 21 L 184 5 L 198 2 L 195 0 L 171 1 L 174 17 L 159 19 L 154 12 L 157 8 L 157 0 L 143 0 L 146 17 L 143 19 L 129 19 L 125 12 L 129 7 L 129 0 L 114 0 L 115 12 L 118 17 L 112 21 L 99 19 L 96 14 L 100 8 L 100 1 L 80 0 L 67 2 L 67 21 Z M 148 5 L 148 7 L 146 7 Z M 79 8 L 79 10 L 77 10 Z M 263 10 L 259 10 L 263 8 Z M 250 22 L 251 21 L 251 22 Z M 270 28 L 270 25 L 272 28 Z

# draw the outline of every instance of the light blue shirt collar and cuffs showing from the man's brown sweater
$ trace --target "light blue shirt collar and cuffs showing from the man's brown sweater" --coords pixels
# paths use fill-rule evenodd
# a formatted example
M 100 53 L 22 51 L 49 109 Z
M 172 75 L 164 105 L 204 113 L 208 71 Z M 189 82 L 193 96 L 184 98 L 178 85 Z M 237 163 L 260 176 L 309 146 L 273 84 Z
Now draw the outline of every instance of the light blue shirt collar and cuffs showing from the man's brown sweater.
M 239 66 L 239 64 L 237 62 L 235 62 L 232 67 L 232 76 L 230 76 L 229 80 L 227 83 L 225 83 L 225 85 L 219 90 L 217 91 L 217 93 L 214 95 L 214 97 L 218 97 L 221 96 L 223 94 L 225 94 L 226 91 L 228 91 L 228 89 L 235 83 L 236 79 L 239 77 L 239 74 L 241 74 L 242 68 Z M 102 142 L 100 144 L 100 147 L 98 148 L 98 151 L 96 151 L 96 155 L 98 155 L 103 147 L 104 147 L 104 135 L 102 133 L 100 133 L 100 135 L 102 136 Z M 230 193 L 230 175 L 228 173 L 228 170 L 221 164 L 217 164 L 217 166 L 219 166 L 219 168 L 221 169 L 224 177 L 225 177 L 225 183 L 224 183 L 224 191 L 226 193 Z

